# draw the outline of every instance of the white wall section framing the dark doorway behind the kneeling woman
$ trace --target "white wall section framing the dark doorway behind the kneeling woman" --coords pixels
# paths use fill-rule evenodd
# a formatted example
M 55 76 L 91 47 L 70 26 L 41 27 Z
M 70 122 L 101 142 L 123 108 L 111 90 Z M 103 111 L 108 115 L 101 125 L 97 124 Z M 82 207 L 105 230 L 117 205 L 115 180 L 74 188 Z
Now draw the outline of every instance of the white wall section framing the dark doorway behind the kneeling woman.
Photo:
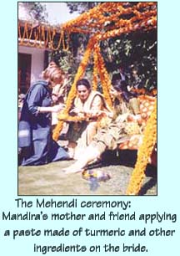
M 18 46 L 19 54 L 32 54 L 32 66 L 31 66 L 31 84 L 40 79 L 42 70 L 44 69 L 44 49 L 36 49 L 26 46 Z

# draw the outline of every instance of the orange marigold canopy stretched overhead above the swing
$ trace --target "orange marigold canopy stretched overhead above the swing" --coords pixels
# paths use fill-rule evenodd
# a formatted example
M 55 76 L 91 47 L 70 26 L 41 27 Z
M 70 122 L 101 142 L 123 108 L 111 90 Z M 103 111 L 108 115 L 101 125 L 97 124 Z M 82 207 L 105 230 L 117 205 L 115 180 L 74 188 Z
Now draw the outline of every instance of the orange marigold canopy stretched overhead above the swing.
M 104 15 L 108 13 L 108 15 Z M 122 28 L 126 23 L 138 23 L 144 18 L 156 16 L 156 3 L 137 3 L 130 6 L 129 3 L 102 3 L 97 7 L 90 9 L 86 13 L 82 13 L 79 17 L 63 24 L 65 31 L 76 32 L 82 29 L 83 33 L 97 33 L 105 31 L 108 23 L 113 23 L 114 28 Z M 124 15 L 132 15 L 133 18 L 126 20 Z M 111 30 L 113 28 L 111 27 Z

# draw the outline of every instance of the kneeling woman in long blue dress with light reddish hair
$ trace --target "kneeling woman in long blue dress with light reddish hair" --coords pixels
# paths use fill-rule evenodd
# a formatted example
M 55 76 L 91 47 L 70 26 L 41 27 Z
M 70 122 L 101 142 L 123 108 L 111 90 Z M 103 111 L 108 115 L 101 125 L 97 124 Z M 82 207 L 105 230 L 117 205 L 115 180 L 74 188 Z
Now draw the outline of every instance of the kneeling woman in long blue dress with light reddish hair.
M 61 84 L 62 70 L 45 69 L 43 80 L 29 88 L 23 102 L 19 121 L 18 146 L 21 148 L 21 165 L 37 166 L 51 161 L 69 159 L 67 151 L 52 140 L 51 114 L 62 110 L 62 105 L 52 106 L 52 88 Z

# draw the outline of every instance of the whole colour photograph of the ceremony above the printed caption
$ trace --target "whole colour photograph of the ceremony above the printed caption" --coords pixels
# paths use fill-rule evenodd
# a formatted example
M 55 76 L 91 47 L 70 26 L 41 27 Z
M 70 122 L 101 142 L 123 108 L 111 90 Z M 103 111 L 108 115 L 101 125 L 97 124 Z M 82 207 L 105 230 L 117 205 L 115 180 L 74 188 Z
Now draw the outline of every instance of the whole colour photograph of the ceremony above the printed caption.
M 158 196 L 158 2 L 18 2 L 18 196 Z

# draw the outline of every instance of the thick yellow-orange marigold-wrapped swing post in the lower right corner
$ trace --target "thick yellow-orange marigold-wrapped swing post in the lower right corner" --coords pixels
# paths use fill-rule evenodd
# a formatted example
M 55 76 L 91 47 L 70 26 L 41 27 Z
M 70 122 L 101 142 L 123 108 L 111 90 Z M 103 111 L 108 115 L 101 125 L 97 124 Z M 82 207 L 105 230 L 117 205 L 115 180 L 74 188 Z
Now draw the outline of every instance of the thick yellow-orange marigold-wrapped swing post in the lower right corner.
M 157 141 L 157 100 L 154 104 L 152 115 L 150 115 L 144 130 L 143 143 L 138 150 L 138 159 L 128 184 L 127 195 L 138 195 L 145 177 L 145 169 L 148 159 L 152 154 L 153 147 Z

